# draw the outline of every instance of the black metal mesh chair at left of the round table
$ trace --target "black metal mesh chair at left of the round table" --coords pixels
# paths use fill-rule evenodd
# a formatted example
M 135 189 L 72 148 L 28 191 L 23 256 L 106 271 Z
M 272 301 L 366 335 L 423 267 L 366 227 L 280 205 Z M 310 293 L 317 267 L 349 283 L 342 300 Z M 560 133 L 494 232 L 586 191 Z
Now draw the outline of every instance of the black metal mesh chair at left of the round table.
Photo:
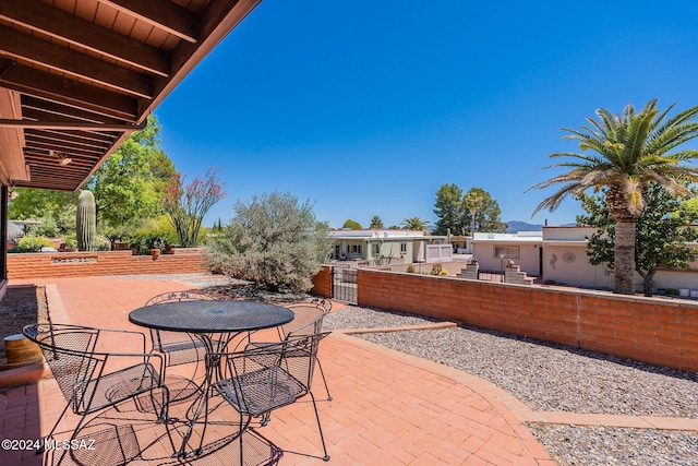
M 119 409 L 118 405 L 131 399 L 139 410 L 154 408 L 157 422 L 167 420 L 169 391 L 164 383 L 165 363 L 160 355 L 145 351 L 143 333 L 41 323 L 27 325 L 22 333 L 39 345 L 68 401 L 46 439 L 52 438 L 69 408 L 81 416 L 71 440 L 75 439 L 88 415 L 110 407 Z M 120 345 L 127 344 L 125 338 L 129 337 L 137 339 L 143 353 L 98 351 L 106 335 L 110 335 L 106 339 L 116 338 Z M 161 392 L 160 399 L 155 395 L 158 390 Z M 149 394 L 147 408 L 139 399 L 144 394 Z M 41 451 L 38 449 L 37 452 Z

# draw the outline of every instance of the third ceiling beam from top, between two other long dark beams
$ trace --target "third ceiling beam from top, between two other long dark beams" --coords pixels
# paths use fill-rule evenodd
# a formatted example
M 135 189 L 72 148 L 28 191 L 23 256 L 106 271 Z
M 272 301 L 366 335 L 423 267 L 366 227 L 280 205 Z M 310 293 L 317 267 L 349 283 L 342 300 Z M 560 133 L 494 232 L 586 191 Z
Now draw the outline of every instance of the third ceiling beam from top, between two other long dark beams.
M 50 68 L 136 97 L 153 97 L 153 77 L 0 26 L 0 55 Z

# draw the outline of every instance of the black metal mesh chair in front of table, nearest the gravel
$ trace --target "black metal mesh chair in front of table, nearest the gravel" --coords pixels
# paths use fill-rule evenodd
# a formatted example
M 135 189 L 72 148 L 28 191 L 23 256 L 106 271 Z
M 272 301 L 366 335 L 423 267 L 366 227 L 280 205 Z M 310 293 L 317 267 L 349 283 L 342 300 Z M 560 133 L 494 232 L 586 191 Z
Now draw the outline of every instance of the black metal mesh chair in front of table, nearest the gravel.
M 320 342 L 329 333 L 288 336 L 263 347 L 248 346 L 239 353 L 206 355 L 210 390 L 217 392 L 240 414 L 240 455 L 242 435 L 249 427 L 245 417 L 264 417 L 268 413 L 310 395 L 317 420 L 324 456 L 290 452 L 329 461 L 315 397 L 311 391 Z M 217 373 L 217 380 L 214 375 Z M 203 443 L 202 433 L 202 443 Z

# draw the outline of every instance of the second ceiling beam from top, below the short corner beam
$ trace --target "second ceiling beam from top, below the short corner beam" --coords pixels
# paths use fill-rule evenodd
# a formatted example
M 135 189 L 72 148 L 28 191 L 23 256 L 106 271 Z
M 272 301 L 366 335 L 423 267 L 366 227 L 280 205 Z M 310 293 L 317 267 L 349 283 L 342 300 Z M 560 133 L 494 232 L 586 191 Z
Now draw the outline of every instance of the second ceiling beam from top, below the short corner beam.
M 96 25 L 39 0 L 2 0 L 0 19 L 122 61 L 159 76 L 170 73 L 169 53 Z

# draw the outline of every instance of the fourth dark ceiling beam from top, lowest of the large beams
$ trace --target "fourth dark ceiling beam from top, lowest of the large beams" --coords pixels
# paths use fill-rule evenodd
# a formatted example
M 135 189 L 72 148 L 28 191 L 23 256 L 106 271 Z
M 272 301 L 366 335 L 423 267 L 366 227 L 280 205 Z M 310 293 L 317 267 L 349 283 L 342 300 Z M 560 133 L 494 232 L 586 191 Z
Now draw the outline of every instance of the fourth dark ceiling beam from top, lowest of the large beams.
M 0 59 L 0 70 L 4 68 L 2 62 L 10 62 L 10 60 Z M 134 97 L 48 74 L 22 64 L 10 62 L 5 71 L 0 72 L 0 86 L 125 122 L 136 121 L 139 105 Z

